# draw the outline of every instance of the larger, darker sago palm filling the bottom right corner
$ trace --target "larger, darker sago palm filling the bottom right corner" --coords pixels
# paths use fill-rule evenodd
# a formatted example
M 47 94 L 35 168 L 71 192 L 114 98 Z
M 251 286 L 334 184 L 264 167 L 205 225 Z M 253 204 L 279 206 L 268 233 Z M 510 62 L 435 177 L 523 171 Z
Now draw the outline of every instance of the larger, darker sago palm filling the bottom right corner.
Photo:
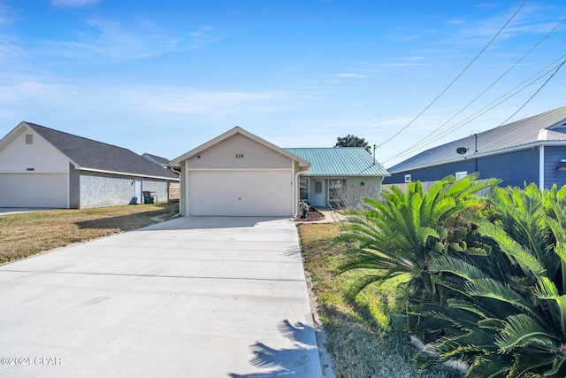
M 494 189 L 491 206 L 494 220 L 472 220 L 493 247 L 486 256 L 430 265 L 457 295 L 413 306 L 446 331 L 417 360 L 459 359 L 470 377 L 566 376 L 566 189 Z

